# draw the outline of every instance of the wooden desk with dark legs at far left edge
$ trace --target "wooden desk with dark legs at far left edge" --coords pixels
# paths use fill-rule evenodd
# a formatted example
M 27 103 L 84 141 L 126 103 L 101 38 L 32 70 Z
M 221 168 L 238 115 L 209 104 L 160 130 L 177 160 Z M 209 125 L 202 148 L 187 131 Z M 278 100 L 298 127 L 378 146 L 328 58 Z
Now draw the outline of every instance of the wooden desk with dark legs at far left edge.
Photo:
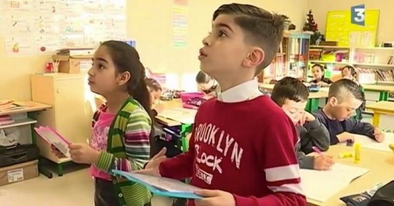
M 36 144 L 36 135 L 34 131 L 34 126 L 35 123 L 37 122 L 37 115 L 40 111 L 51 108 L 51 106 L 43 103 L 36 103 L 36 102 L 14 102 L 14 104 L 24 107 L 20 109 L 0 111 L 0 116 L 26 114 L 27 115 L 26 120 L 21 119 L 20 121 L 16 121 L 13 124 L 1 126 L 1 128 L 30 125 L 30 129 L 32 132 L 32 143 Z M 40 164 L 40 162 L 38 164 L 38 171 L 39 173 L 45 175 L 46 177 L 52 178 L 52 173 L 49 172 L 46 168 L 44 168 L 43 165 Z

